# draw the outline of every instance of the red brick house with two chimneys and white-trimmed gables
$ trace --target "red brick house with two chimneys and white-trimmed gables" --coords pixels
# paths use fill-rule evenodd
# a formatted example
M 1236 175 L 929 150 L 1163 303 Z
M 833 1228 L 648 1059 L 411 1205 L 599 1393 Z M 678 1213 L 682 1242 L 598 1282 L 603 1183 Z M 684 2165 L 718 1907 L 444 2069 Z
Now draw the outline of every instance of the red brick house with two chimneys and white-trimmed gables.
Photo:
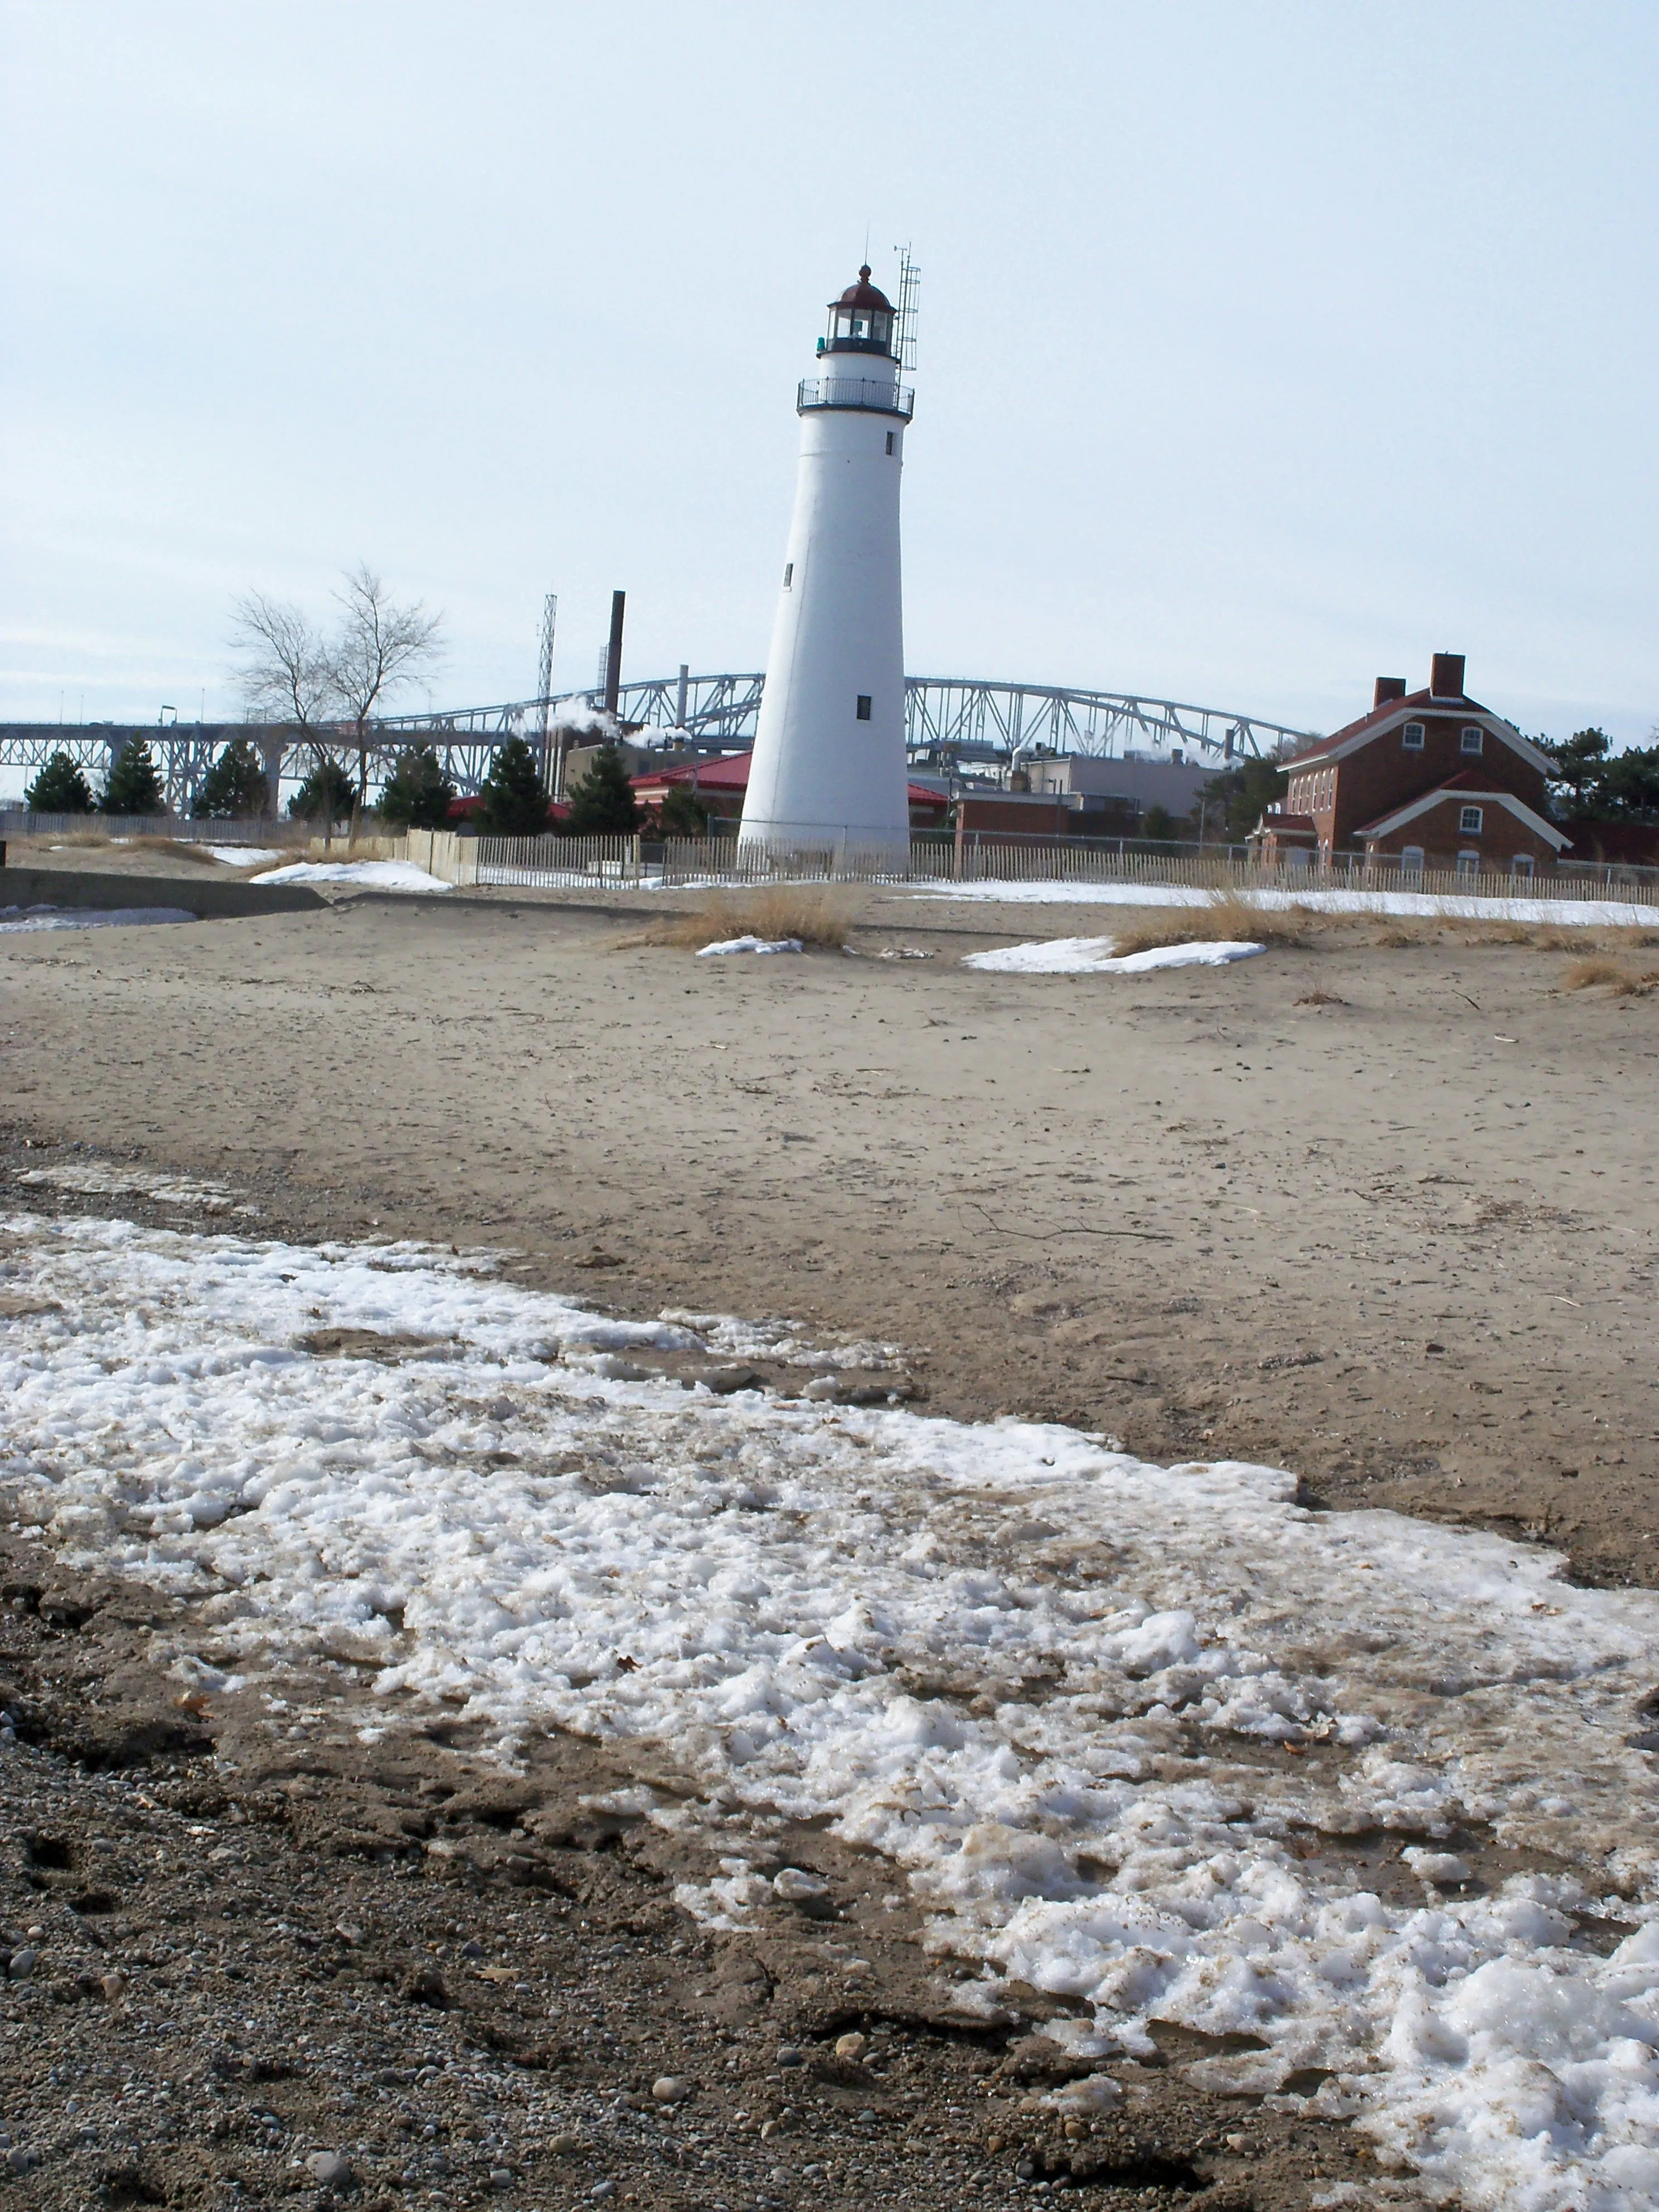
M 1363 852 L 1402 869 L 1531 876 L 1571 845 L 1546 812 L 1548 759 L 1464 692 L 1462 653 L 1436 653 L 1429 688 L 1378 677 L 1369 714 L 1298 752 L 1263 858 Z

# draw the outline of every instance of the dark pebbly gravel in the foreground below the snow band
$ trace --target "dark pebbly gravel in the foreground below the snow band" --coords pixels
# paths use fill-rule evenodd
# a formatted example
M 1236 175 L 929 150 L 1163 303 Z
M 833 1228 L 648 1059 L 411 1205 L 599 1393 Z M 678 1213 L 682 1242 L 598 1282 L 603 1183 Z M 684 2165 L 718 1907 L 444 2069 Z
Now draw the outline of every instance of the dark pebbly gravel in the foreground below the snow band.
M 1033 2033 L 1044 2000 L 956 2015 L 827 1838 L 792 1838 L 803 1907 L 714 1933 L 672 1902 L 703 1867 L 575 1816 L 606 1781 L 584 1745 L 529 1776 L 442 1730 L 369 1750 L 347 1683 L 296 1747 L 181 1710 L 139 1657 L 164 1599 L 66 1582 L 20 1535 L 0 1582 L 0 2201 L 1416 2201 L 1345 2126 L 1206 2097 L 1179 2053 L 1113 2068 L 1110 2110 L 1044 2104 L 1086 2070 Z

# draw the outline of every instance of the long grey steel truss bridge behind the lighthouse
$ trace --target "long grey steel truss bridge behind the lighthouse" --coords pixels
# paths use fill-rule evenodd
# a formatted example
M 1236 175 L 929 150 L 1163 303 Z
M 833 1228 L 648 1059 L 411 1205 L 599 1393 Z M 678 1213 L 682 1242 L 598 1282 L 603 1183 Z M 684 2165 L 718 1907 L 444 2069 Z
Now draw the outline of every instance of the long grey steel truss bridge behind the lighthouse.
M 765 675 L 650 677 L 624 684 L 617 719 L 646 741 L 690 741 L 699 750 L 741 750 L 754 743 Z M 551 699 L 513 699 L 427 714 L 389 714 L 369 732 L 369 783 L 383 783 L 407 745 L 431 745 L 460 792 L 476 792 L 509 737 L 546 748 L 549 732 L 582 730 L 604 710 L 602 690 L 560 692 Z M 1225 768 L 1237 759 L 1279 759 L 1318 732 L 1290 730 L 1259 714 L 1148 699 L 1139 692 L 1068 690 L 1053 684 L 980 684 L 971 677 L 907 677 L 905 741 L 916 768 L 1009 763 L 1029 752 L 1084 752 L 1144 759 L 1186 759 Z M 254 743 L 268 776 L 299 781 L 319 748 L 356 765 L 349 730 L 299 732 L 276 723 L 0 723 L 0 768 L 31 776 L 53 752 L 66 752 L 97 783 L 113 759 L 146 739 L 166 785 L 168 805 L 186 812 L 208 763 L 232 737 Z

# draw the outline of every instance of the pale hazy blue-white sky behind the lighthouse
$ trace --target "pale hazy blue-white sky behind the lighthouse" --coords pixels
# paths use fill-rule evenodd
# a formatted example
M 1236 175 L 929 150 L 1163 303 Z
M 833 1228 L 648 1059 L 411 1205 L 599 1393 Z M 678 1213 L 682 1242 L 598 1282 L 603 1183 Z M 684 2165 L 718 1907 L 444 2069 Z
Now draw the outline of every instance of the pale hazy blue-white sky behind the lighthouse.
M 0 714 L 239 710 L 369 560 L 440 706 L 759 668 L 794 383 L 922 268 L 916 675 L 1659 719 L 1659 9 L 0 0 Z M 416 692 L 409 706 L 420 706 Z

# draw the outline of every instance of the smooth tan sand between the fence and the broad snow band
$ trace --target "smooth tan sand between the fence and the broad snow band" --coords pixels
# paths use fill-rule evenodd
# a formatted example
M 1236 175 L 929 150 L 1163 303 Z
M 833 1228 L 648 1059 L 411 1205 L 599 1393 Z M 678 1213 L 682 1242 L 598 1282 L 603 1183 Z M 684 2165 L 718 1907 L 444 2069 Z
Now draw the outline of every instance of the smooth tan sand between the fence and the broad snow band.
M 234 1181 L 299 1234 L 511 1245 L 626 1314 L 891 1340 L 942 1411 L 1659 1582 L 1659 998 L 1458 925 L 982 975 L 964 953 L 1113 918 L 876 889 L 863 958 L 624 949 L 659 905 L 0 940 L 11 1133 Z

